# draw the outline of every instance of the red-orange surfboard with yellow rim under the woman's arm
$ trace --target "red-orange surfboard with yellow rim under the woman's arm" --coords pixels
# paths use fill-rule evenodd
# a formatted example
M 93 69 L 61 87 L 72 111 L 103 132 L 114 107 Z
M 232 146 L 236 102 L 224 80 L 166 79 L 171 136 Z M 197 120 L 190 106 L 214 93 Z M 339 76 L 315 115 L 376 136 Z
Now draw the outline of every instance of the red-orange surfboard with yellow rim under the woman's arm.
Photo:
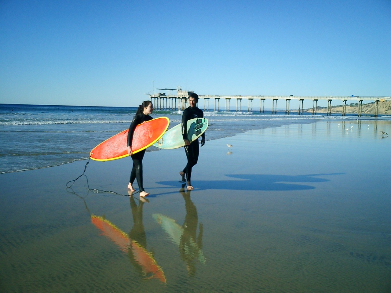
M 159 117 L 136 126 L 133 133 L 133 154 L 145 150 L 158 141 L 169 127 L 167 117 Z M 128 156 L 126 129 L 109 139 L 106 139 L 91 150 L 90 157 L 95 161 L 109 161 Z

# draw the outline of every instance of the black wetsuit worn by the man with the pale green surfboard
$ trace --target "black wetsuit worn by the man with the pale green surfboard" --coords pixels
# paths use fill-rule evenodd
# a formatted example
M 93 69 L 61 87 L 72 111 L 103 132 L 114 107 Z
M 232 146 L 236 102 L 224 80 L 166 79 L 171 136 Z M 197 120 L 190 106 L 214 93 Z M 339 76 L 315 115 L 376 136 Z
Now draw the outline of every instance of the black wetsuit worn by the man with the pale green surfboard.
M 187 139 L 187 121 L 193 118 L 203 118 L 204 113 L 201 109 L 197 107 L 188 107 L 183 111 L 182 114 L 182 136 L 183 139 Z M 205 138 L 205 132 L 201 134 L 201 137 Z M 185 151 L 187 156 L 187 164 L 182 170 L 186 174 L 186 181 L 190 182 L 192 176 L 192 167 L 197 164 L 198 155 L 199 155 L 199 143 L 198 139 L 190 143 L 190 145 L 185 145 Z

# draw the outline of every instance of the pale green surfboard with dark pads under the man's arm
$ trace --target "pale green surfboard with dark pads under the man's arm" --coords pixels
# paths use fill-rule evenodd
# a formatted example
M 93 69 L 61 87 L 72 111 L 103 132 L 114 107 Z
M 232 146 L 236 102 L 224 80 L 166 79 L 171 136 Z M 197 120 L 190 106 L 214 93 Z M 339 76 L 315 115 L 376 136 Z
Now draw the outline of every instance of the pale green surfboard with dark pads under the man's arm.
M 192 142 L 201 136 L 208 128 L 208 119 L 206 118 L 194 118 L 187 121 L 187 139 Z M 180 148 L 185 145 L 182 136 L 182 123 L 175 125 L 171 129 L 167 130 L 165 134 L 154 143 L 158 148 Z

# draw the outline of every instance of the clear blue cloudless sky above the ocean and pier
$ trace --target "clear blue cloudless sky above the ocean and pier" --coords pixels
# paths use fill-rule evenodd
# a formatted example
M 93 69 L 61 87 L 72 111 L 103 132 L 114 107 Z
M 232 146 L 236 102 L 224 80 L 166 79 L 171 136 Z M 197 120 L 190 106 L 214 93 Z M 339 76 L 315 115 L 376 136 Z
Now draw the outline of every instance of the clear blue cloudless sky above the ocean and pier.
M 391 96 L 391 0 L 0 0 L 0 103 Z

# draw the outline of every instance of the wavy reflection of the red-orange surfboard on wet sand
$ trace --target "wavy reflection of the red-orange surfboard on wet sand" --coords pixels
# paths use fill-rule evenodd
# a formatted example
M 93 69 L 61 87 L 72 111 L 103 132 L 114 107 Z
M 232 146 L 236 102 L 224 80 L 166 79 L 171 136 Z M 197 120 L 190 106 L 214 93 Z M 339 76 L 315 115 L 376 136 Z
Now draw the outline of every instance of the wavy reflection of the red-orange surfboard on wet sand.
M 156 263 L 152 254 L 142 245 L 130 239 L 124 231 L 102 217 L 91 215 L 91 222 L 103 232 L 104 236 L 117 244 L 122 251 L 127 252 L 127 250 L 131 249 L 135 256 L 135 261 L 140 264 L 145 274 L 152 274 L 151 278 L 159 279 L 163 283 L 166 282 L 163 270 Z

